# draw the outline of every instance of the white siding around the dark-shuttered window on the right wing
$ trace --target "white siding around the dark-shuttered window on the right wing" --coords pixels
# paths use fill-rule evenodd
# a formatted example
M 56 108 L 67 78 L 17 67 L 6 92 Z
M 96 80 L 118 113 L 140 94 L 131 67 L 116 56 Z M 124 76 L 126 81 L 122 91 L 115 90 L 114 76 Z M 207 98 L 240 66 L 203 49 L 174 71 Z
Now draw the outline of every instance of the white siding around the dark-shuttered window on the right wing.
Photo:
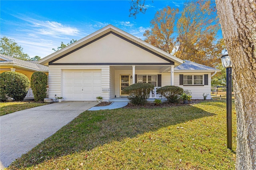
M 208 85 L 204 86 L 190 86 L 180 85 L 180 74 L 183 75 L 204 75 L 208 74 Z M 203 81 L 204 82 L 204 81 Z M 207 99 L 211 99 L 211 74 L 210 73 L 175 73 L 174 72 L 174 85 L 182 87 L 184 90 L 190 90 L 192 92 L 192 99 L 204 99 L 203 93 L 208 93 Z

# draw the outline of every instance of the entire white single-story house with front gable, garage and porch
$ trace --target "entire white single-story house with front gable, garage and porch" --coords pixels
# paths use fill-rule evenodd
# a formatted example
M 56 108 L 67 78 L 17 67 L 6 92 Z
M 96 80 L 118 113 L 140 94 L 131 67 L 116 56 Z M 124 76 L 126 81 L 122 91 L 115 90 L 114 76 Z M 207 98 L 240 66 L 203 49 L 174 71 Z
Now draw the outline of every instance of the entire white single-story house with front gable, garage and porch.
M 211 73 L 205 65 L 183 61 L 112 25 L 44 57 L 49 68 L 49 98 L 64 101 L 103 101 L 127 97 L 122 89 L 146 82 L 155 89 L 176 85 L 192 91 L 192 99 L 211 92 Z M 150 97 L 158 97 L 153 91 Z M 210 99 L 210 95 L 208 96 Z

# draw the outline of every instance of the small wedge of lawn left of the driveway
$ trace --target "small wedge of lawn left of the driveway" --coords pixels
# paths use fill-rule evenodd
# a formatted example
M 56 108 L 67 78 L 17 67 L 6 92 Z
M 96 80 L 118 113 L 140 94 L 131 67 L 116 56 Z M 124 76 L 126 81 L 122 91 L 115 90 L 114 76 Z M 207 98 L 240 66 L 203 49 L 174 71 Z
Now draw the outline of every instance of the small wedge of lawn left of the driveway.
M 0 116 L 42 105 L 46 105 L 46 103 L 31 101 L 0 102 Z

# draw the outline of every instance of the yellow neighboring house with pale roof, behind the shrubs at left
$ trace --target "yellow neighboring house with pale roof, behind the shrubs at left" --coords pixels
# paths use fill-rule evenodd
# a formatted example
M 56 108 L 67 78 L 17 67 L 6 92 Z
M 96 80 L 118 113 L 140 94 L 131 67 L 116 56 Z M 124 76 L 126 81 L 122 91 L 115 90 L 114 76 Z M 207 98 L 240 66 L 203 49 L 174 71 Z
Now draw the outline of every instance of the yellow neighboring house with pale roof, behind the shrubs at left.
M 0 54 L 0 73 L 5 71 L 16 71 L 31 79 L 31 75 L 36 71 L 42 71 L 48 75 L 48 67 L 38 64 L 38 61 L 24 61 L 14 57 Z

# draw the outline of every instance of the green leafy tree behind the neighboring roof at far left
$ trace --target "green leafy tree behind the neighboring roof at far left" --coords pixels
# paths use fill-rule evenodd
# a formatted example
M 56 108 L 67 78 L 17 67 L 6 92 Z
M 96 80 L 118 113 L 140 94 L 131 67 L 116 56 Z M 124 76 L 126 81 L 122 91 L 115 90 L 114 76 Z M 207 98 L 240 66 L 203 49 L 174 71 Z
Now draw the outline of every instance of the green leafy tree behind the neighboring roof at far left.
M 22 60 L 30 60 L 29 55 L 23 52 L 23 48 L 18 43 L 5 36 L 0 40 L 0 53 Z

